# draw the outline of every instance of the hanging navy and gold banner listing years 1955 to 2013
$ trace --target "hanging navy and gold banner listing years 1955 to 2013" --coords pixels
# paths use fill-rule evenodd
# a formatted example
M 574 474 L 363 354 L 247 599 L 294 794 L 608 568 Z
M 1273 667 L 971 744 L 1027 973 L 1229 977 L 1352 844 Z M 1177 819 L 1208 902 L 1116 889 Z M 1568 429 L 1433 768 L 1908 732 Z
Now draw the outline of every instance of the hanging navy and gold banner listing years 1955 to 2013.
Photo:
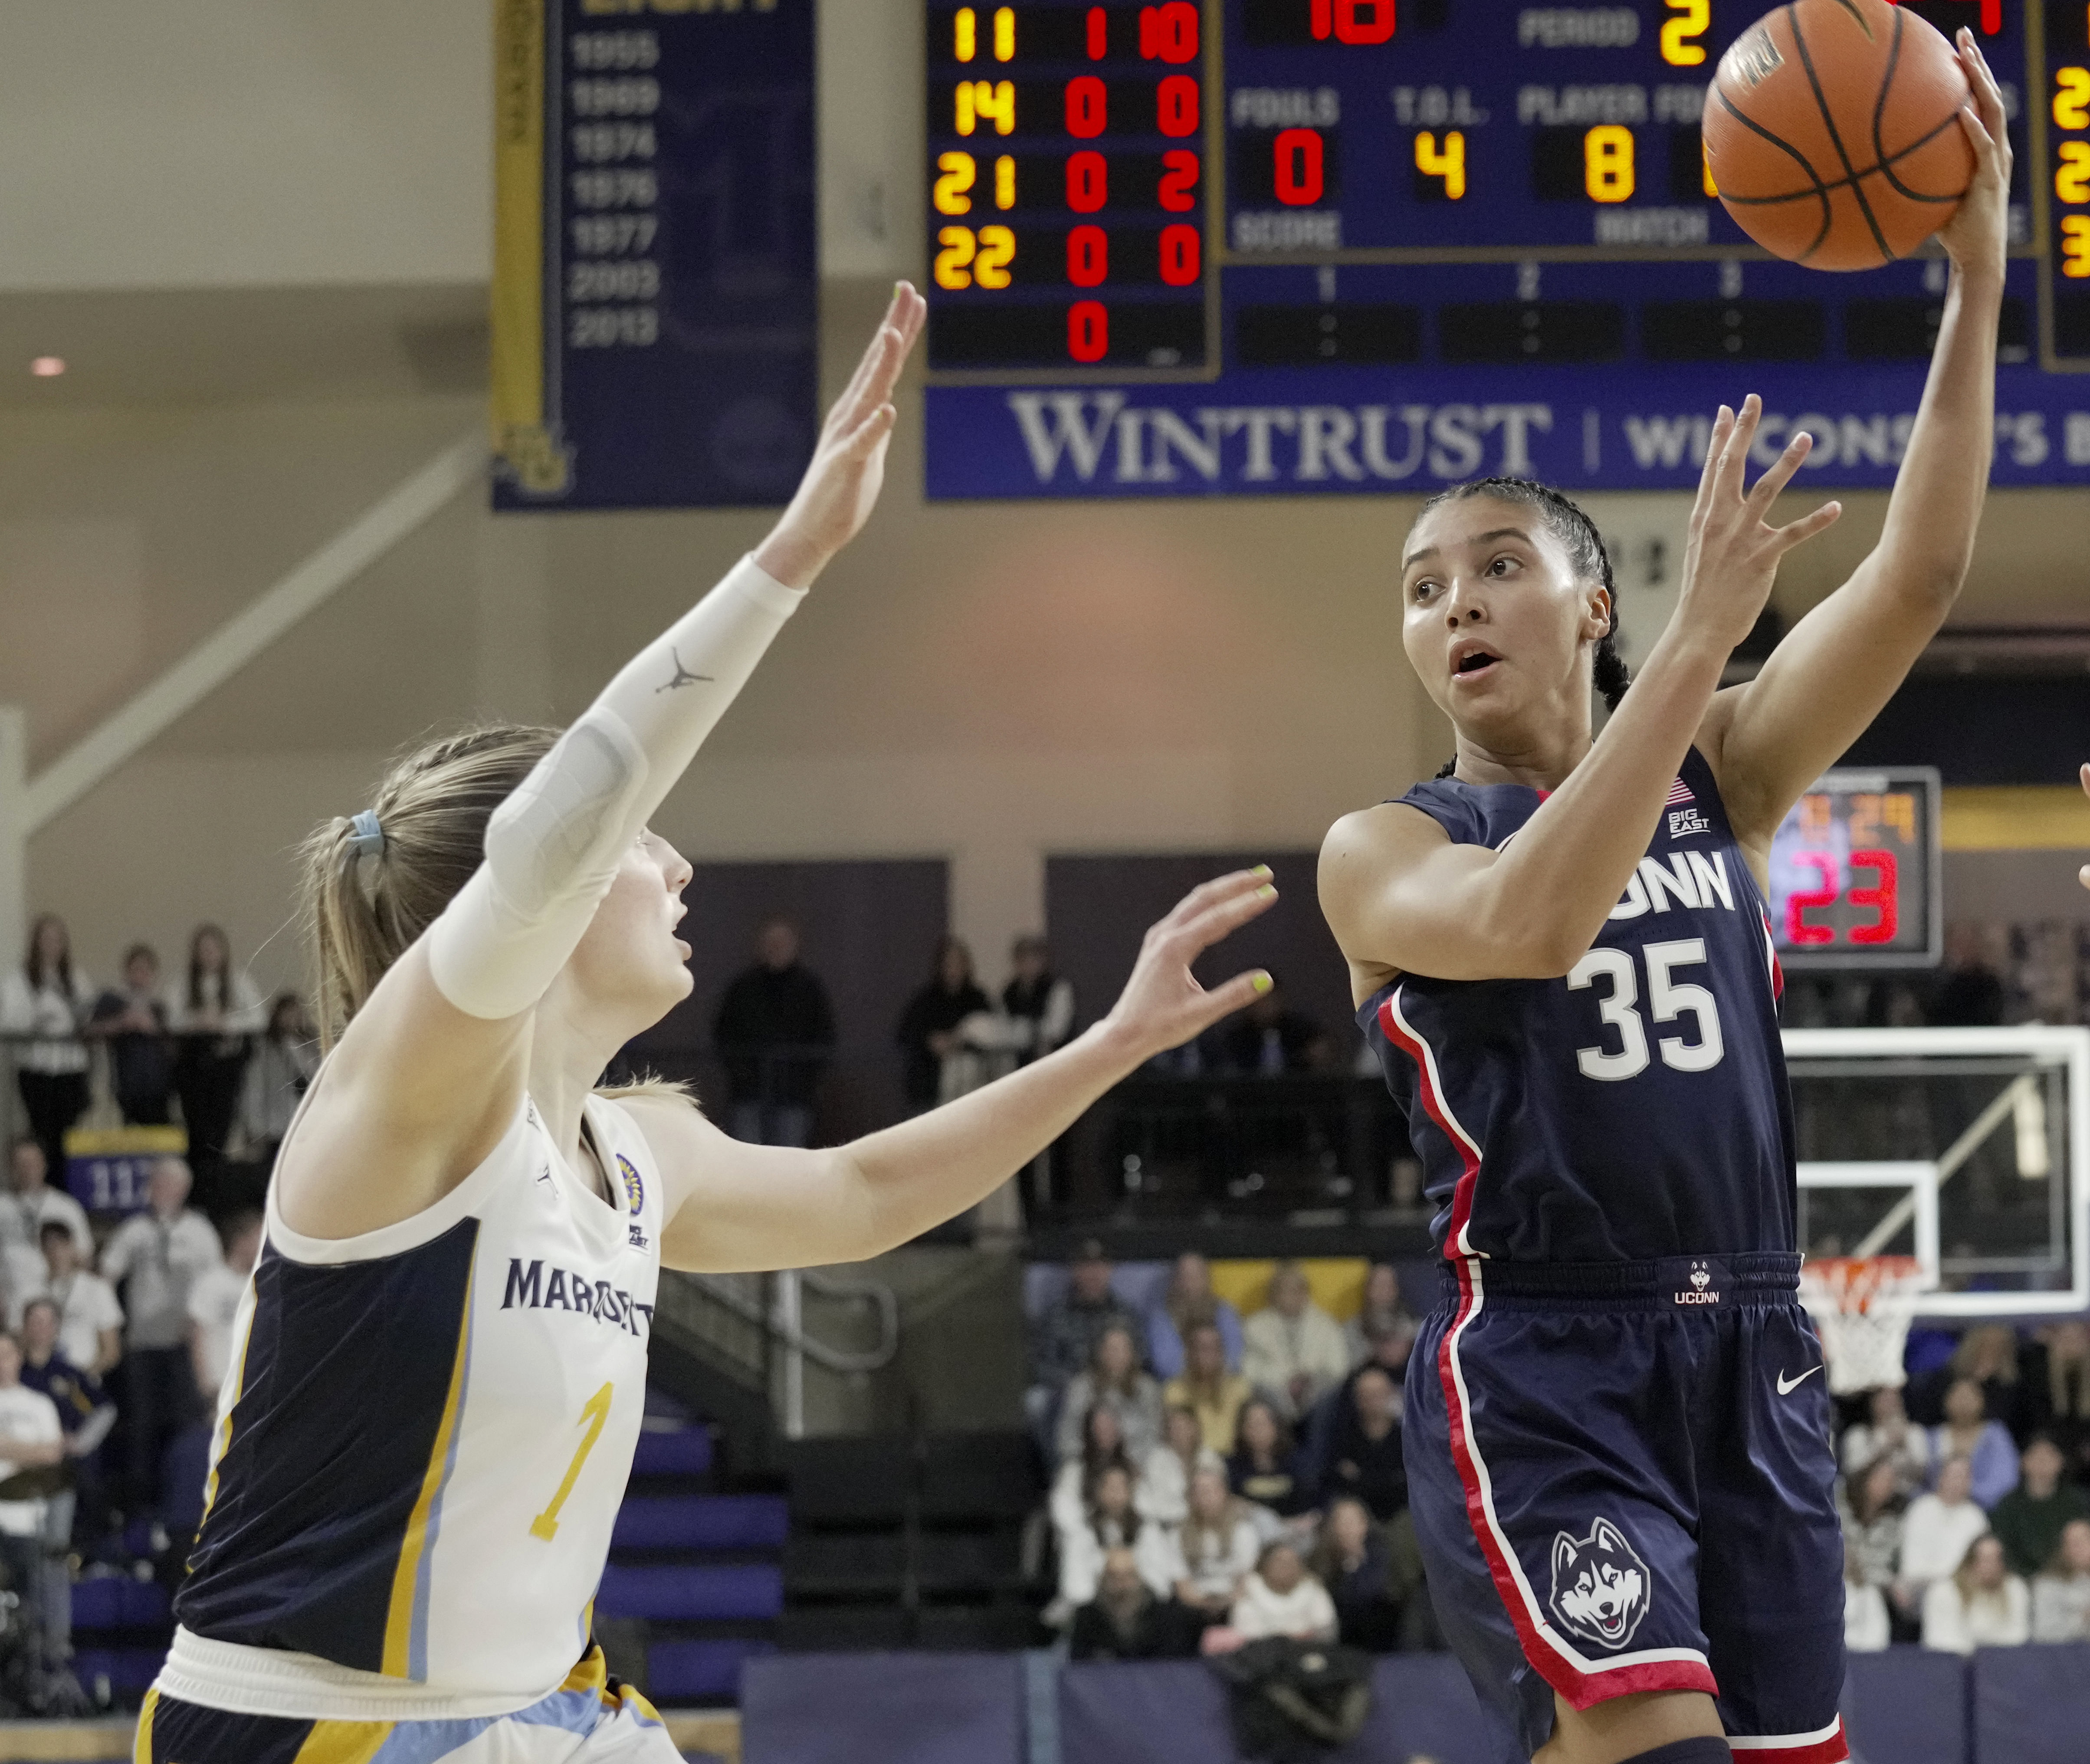
M 493 506 L 788 500 L 815 245 L 813 0 L 500 0 Z

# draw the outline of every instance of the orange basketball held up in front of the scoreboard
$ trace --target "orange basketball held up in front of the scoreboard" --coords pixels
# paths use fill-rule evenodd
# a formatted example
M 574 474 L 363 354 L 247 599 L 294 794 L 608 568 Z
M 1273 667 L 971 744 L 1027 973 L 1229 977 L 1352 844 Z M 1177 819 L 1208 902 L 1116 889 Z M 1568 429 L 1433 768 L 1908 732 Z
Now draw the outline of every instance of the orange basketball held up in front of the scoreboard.
M 1735 224 L 1812 270 L 1875 270 L 1950 217 L 1973 178 L 1958 56 L 1887 0 L 1793 0 L 1720 56 L 1705 167 Z

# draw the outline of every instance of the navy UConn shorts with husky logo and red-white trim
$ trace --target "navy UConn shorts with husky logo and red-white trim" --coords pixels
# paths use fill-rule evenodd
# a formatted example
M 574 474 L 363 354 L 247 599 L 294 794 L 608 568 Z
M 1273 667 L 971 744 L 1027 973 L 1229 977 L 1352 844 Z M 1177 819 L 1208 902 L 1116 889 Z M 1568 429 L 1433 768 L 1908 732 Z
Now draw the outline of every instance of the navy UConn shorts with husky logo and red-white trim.
M 1843 1540 L 1799 1258 L 1446 1262 L 1409 1361 L 1430 1597 L 1501 1756 L 1553 1697 L 1705 1691 L 1737 1764 L 1848 1758 Z

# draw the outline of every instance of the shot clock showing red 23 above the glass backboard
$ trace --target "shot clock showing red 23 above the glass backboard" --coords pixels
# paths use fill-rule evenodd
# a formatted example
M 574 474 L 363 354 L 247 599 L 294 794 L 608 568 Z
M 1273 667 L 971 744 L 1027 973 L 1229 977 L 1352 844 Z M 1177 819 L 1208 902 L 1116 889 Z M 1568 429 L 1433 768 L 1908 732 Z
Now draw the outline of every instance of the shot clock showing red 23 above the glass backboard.
M 1944 955 L 1931 767 L 1829 771 L 1770 842 L 1770 932 L 1791 968 L 1912 968 Z

